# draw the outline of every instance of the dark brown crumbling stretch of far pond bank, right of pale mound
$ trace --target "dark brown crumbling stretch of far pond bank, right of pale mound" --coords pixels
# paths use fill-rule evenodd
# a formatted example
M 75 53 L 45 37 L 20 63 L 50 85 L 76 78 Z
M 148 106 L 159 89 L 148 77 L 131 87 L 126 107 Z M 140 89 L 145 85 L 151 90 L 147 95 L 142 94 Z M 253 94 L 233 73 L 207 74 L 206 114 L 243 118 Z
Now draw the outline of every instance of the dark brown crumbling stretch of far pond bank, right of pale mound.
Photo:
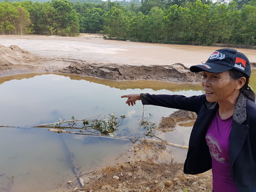
M 189 71 L 183 64 L 170 66 L 86 64 L 75 62 L 56 72 L 94 76 L 109 80 L 161 80 L 170 82 L 200 82 L 200 76 Z

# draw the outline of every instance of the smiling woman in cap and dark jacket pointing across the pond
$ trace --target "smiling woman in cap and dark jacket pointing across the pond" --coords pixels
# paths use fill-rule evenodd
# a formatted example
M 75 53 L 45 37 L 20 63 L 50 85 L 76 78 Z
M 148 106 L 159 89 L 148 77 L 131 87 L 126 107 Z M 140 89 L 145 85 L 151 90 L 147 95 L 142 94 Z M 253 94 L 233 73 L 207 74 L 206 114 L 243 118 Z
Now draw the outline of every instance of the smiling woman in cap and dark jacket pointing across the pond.
M 214 192 L 256 191 L 256 104 L 248 85 L 248 58 L 234 49 L 220 49 L 205 64 L 190 70 L 203 72 L 204 95 L 121 97 L 128 98 L 129 106 L 142 100 L 142 104 L 196 112 L 184 173 L 199 174 L 212 168 Z

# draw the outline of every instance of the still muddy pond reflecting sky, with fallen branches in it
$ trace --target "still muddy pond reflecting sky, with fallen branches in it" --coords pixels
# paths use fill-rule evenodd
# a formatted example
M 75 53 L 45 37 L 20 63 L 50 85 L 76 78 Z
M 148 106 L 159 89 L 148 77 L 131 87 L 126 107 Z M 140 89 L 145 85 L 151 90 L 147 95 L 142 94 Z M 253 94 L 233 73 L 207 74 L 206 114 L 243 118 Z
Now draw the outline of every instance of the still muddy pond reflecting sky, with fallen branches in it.
M 251 86 L 256 88 L 254 80 L 251 80 Z M 0 125 L 14 126 L 0 127 L 0 191 L 46 192 L 73 180 L 75 176 L 69 150 L 82 173 L 114 163 L 132 146 L 130 141 L 57 134 L 47 128 L 33 126 L 58 122 L 59 118 L 70 120 L 74 116 L 82 119 L 115 112 L 117 116 L 126 115 L 116 131 L 117 136 L 130 137 L 138 130 L 143 106 L 141 102 L 128 106 L 126 99 L 120 96 L 141 92 L 185 96 L 202 94 L 200 84 L 114 82 L 66 74 L 24 74 L 0 78 Z M 151 114 L 150 121 L 158 124 L 162 116 L 174 111 L 147 106 L 144 114 Z M 168 142 L 188 145 L 190 132 L 191 127 L 178 126 L 176 130 L 158 136 Z M 144 137 L 143 130 L 137 134 Z M 169 148 L 174 162 L 184 162 L 186 150 Z

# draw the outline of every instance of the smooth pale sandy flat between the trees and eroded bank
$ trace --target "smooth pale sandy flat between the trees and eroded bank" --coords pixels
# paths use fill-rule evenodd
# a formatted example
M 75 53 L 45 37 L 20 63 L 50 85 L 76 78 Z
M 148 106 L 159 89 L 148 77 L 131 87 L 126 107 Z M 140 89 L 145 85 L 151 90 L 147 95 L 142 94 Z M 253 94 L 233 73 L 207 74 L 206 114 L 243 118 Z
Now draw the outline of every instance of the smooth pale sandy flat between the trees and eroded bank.
M 16 45 L 47 58 L 71 58 L 88 63 L 116 63 L 127 65 L 172 65 L 187 67 L 205 62 L 217 47 L 152 44 L 104 40 L 100 35 L 79 37 L 56 36 L 0 36 L 0 44 Z M 237 49 L 256 62 L 256 50 Z

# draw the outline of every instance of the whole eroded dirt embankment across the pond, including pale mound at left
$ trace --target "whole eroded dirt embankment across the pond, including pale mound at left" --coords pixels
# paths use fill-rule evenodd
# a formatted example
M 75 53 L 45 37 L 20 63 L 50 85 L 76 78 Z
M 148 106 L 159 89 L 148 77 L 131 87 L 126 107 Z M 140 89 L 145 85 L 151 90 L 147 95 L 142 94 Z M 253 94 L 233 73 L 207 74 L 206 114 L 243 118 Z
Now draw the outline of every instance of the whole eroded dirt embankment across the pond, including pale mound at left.
M 87 63 L 82 60 L 42 58 L 18 46 L 0 45 L 0 76 L 21 73 L 56 72 L 93 76 L 108 80 L 160 80 L 179 83 L 200 82 L 200 77 L 183 64 L 120 65 L 114 63 Z

